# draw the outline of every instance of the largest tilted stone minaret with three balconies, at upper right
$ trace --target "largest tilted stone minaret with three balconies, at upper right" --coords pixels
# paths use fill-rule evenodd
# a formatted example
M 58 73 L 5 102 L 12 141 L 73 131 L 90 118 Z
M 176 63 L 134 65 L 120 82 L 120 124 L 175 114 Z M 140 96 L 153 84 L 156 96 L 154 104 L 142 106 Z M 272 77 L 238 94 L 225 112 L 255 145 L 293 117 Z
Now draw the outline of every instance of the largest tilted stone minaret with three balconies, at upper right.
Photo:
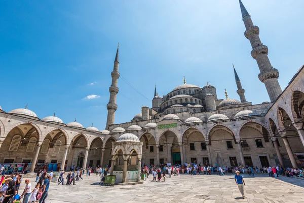
M 278 82 L 279 71 L 274 69 L 268 58 L 268 47 L 263 45 L 259 39 L 259 28 L 253 25 L 251 17 L 245 9 L 241 0 L 239 0 L 242 12 L 242 18 L 246 27 L 245 37 L 250 40 L 252 51 L 251 56 L 256 60 L 260 70 L 258 78 L 265 84 L 271 102 L 282 93 Z

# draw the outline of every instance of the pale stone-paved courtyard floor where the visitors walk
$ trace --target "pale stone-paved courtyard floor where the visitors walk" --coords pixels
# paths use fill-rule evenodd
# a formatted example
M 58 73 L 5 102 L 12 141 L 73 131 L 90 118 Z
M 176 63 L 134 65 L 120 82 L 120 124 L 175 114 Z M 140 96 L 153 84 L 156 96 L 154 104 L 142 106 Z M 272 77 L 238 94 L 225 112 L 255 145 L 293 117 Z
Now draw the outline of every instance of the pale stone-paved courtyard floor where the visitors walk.
M 286 177 L 245 175 L 246 199 L 240 198 L 233 175 L 181 175 L 165 182 L 152 182 L 150 176 L 130 186 L 99 186 L 95 174 L 83 178 L 71 186 L 52 182 L 46 202 L 304 202 L 304 181 Z M 24 185 L 23 179 L 20 192 Z

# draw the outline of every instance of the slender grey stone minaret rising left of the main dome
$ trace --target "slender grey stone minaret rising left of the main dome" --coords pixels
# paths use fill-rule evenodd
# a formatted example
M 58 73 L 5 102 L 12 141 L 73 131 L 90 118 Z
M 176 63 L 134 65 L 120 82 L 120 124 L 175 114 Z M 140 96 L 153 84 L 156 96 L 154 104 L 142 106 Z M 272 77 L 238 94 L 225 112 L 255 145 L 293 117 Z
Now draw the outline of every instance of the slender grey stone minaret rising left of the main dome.
M 116 52 L 116 56 L 115 56 L 115 61 L 114 61 L 114 70 L 111 73 L 112 76 L 112 84 L 109 87 L 109 91 L 110 91 L 110 101 L 109 103 L 106 105 L 106 109 L 108 110 L 108 116 L 106 119 L 106 127 L 105 129 L 108 129 L 109 125 L 114 124 L 115 121 L 115 111 L 117 110 L 118 106 L 116 104 L 116 97 L 117 97 L 117 93 L 119 91 L 119 88 L 117 87 L 117 82 L 119 79 L 119 44 L 117 46 L 117 52 Z

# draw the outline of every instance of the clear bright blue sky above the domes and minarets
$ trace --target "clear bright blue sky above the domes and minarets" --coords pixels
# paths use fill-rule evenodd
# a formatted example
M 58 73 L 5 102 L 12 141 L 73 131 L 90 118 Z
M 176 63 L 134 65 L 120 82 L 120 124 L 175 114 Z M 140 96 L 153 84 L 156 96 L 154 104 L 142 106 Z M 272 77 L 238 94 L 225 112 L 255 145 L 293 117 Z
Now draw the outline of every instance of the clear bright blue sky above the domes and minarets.
M 243 0 L 284 89 L 304 64 L 304 1 Z M 121 78 L 116 123 L 141 105 L 186 83 L 208 81 L 239 99 L 232 63 L 253 104 L 270 100 L 250 56 L 237 0 L 2 1 L 0 67 L 5 111 L 24 108 L 39 118 L 74 118 L 85 127 L 106 124 L 113 60 L 120 43 Z M 90 99 L 86 98 L 89 95 Z M 92 98 L 93 97 L 93 98 Z

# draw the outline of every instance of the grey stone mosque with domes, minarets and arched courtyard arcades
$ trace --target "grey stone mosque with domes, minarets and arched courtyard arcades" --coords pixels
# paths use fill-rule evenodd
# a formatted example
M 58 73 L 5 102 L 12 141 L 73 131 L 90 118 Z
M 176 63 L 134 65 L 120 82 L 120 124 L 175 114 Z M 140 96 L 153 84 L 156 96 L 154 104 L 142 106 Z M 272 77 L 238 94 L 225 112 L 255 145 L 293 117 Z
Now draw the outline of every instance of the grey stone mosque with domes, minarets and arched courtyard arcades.
M 259 27 L 239 2 L 245 37 L 270 102 L 252 105 L 247 101 L 234 69 L 239 100 L 229 98 L 226 91 L 225 98 L 219 98 L 213 85 L 200 87 L 184 79 L 163 96 L 155 88 L 151 108 L 143 106 L 130 122 L 115 124 L 118 48 L 105 130 L 93 125 L 85 128 L 76 120 L 65 124 L 55 114 L 40 119 L 27 107 L 9 112 L 0 107 L 0 162 L 13 164 L 14 170 L 28 167 L 30 172 L 35 165 L 46 163 L 54 171 L 68 170 L 72 165 L 111 164 L 112 143 L 126 138 L 143 143 L 142 154 L 134 161 L 144 164 L 304 165 L 304 65 L 282 91 L 279 71 L 271 65 Z

